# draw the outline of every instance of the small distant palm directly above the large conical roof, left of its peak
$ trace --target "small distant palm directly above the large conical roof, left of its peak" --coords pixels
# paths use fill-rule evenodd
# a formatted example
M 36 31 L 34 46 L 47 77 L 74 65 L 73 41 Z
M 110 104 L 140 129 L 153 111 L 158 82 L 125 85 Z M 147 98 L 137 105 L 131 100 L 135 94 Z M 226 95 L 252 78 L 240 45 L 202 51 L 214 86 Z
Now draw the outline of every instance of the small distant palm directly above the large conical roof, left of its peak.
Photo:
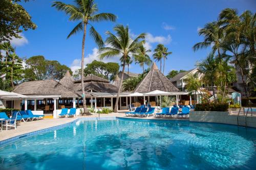
M 146 50 L 143 45 L 140 45 L 137 54 L 133 55 L 136 61 L 135 64 L 139 64 L 142 67 L 142 72 L 144 72 L 144 64 L 149 66 L 152 63 L 150 56 L 147 55 L 149 52 L 151 52 L 151 50 Z

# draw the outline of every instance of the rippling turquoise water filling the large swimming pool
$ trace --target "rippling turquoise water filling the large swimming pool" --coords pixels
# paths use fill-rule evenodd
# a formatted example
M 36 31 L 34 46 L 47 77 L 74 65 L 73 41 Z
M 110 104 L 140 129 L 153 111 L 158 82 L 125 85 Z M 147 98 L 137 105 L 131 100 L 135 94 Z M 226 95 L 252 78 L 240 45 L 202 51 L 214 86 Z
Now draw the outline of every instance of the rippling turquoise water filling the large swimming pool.
M 255 169 L 256 129 L 178 120 L 78 120 L 0 148 L 0 169 Z

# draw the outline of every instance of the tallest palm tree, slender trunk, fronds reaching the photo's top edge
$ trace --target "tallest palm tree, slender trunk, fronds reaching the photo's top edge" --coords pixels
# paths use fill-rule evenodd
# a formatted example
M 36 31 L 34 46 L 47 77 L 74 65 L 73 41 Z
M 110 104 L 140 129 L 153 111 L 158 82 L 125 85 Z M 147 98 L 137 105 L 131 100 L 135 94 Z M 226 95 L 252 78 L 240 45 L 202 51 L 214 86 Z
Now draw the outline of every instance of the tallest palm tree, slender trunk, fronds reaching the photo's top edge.
M 83 111 L 87 112 L 86 107 L 86 97 L 84 91 L 84 82 L 83 82 L 83 74 L 84 74 L 84 44 L 86 41 L 87 34 L 87 25 L 90 25 L 90 35 L 93 37 L 95 42 L 99 47 L 103 46 L 103 41 L 99 33 L 92 26 L 91 22 L 99 22 L 103 20 L 115 21 L 116 16 L 111 13 L 99 13 L 98 7 L 94 4 L 94 0 L 76 0 L 74 1 L 74 5 L 65 4 L 62 2 L 55 1 L 53 2 L 52 7 L 56 7 L 57 10 L 64 11 L 66 14 L 70 15 L 69 20 L 80 21 L 78 25 L 70 32 L 67 38 L 78 33 L 79 31 L 83 31 L 82 36 L 82 59 L 81 59 L 81 84 L 82 84 L 82 99 L 83 99 Z

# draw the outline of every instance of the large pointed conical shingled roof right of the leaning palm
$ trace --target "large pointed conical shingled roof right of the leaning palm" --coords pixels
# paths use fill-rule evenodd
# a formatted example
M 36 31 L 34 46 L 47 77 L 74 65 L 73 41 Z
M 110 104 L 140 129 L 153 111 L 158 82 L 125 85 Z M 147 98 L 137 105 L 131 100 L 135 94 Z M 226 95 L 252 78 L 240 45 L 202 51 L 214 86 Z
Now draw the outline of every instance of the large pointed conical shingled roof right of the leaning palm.
M 150 92 L 154 90 L 167 92 L 180 91 L 162 74 L 155 62 L 153 63 L 150 72 L 148 72 L 144 79 L 138 84 L 134 92 Z

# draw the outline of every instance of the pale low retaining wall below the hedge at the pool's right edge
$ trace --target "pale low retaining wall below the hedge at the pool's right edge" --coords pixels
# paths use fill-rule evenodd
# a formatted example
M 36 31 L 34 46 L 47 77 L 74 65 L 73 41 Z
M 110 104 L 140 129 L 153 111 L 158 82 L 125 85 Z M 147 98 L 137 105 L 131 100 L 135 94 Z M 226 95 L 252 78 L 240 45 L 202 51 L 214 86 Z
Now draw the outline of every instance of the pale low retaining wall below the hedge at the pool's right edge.
M 217 112 L 217 111 L 191 111 L 189 113 L 190 122 L 208 122 L 208 123 L 221 123 L 230 125 L 245 126 L 245 116 L 229 115 L 229 112 Z M 248 127 L 256 128 L 256 117 L 246 118 L 246 124 Z

